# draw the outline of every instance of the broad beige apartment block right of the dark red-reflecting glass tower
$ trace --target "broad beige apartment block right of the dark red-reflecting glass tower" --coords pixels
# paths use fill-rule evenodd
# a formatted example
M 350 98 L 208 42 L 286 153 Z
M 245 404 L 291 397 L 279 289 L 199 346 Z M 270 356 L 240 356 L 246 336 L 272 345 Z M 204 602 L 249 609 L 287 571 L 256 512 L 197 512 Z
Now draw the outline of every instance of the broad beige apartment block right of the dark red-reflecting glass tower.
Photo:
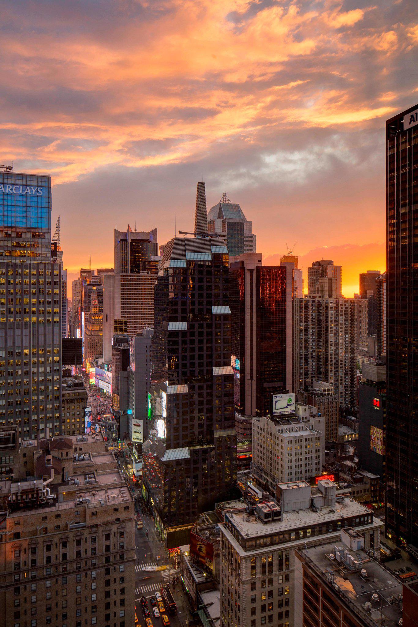
M 354 298 L 296 298 L 295 389 L 327 381 L 339 406 L 357 405 Z

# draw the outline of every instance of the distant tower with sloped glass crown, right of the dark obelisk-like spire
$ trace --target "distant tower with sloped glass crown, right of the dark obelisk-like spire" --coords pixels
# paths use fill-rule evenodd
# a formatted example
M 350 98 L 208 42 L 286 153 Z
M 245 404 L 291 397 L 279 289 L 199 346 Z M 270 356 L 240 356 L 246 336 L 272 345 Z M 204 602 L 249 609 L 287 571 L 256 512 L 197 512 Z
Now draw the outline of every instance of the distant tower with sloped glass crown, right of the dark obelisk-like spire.
M 231 257 L 256 252 L 256 236 L 252 228 L 253 223 L 246 219 L 239 204 L 231 203 L 226 194 L 207 214 L 209 234 L 224 241 Z

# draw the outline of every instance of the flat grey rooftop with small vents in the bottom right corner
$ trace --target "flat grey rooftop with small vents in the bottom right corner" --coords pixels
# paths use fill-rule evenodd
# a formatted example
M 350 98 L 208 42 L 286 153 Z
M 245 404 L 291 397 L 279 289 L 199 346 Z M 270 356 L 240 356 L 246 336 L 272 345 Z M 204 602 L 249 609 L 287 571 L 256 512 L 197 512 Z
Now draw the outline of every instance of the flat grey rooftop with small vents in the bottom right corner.
M 330 558 L 335 542 L 299 549 L 301 556 L 367 625 L 395 627 L 402 618 L 402 583 L 363 550 L 350 551 L 359 562 L 349 567 Z M 338 545 L 341 542 L 337 543 Z M 366 574 L 360 574 L 365 569 Z M 373 597 L 377 594 L 376 597 Z

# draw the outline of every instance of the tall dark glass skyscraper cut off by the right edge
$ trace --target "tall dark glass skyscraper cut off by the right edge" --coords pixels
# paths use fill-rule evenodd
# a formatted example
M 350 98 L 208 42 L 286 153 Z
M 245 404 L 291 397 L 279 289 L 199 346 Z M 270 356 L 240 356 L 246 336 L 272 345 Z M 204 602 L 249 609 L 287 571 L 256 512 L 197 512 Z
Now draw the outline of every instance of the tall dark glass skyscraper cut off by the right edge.
M 386 533 L 418 545 L 418 105 L 386 122 Z

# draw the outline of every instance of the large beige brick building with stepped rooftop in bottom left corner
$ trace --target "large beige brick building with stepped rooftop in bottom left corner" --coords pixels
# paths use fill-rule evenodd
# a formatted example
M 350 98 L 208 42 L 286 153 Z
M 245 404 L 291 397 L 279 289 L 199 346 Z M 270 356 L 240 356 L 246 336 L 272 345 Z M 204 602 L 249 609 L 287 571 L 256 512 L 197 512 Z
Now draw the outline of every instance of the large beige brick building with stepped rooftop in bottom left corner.
M 79 439 L 23 446 L 21 479 L 0 482 L 4 627 L 133 625 L 132 495 L 103 440 Z

